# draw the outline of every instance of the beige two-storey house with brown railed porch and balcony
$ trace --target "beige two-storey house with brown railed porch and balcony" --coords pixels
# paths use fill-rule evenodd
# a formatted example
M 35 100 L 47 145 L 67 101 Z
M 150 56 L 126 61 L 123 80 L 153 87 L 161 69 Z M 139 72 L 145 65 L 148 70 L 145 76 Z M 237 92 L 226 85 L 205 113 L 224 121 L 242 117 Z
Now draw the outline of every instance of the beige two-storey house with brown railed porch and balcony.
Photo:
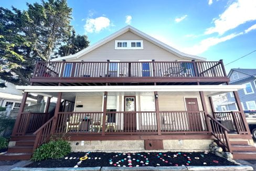
M 30 86 L 17 86 L 25 93 L 10 144 L 30 140 L 32 152 L 65 135 L 72 151 L 205 151 L 216 139 L 237 158 L 233 138 L 253 144 L 242 109 L 233 134 L 212 111 L 214 95 L 234 92 L 239 100 L 244 86 L 220 85 L 227 82 L 222 60 L 185 54 L 126 26 L 77 54 L 37 62 Z M 28 93 L 57 98 L 54 115 L 24 112 Z M 19 149 L 0 159 L 17 158 Z M 256 158 L 250 153 L 240 158 Z

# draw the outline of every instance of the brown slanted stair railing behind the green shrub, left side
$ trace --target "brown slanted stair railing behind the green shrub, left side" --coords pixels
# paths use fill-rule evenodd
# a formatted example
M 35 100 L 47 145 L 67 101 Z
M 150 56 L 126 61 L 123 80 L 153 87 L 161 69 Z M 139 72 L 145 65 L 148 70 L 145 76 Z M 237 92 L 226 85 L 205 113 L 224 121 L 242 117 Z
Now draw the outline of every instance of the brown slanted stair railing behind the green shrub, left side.
M 49 119 L 44 125 L 42 125 L 37 131 L 33 133 L 33 135 L 36 135 L 33 151 L 41 144 L 46 143 L 50 140 L 52 120 L 54 120 L 54 116 L 51 117 L 51 119 Z

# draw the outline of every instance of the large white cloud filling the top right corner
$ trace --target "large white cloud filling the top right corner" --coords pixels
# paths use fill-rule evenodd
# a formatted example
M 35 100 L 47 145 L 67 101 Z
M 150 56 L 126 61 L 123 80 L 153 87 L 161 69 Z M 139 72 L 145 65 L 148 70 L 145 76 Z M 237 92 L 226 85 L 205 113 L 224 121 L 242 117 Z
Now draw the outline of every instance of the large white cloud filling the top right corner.
M 236 28 L 239 25 L 256 20 L 256 1 L 238 0 L 227 7 L 225 12 L 213 20 L 214 27 L 206 29 L 205 34 L 224 34 L 226 31 Z

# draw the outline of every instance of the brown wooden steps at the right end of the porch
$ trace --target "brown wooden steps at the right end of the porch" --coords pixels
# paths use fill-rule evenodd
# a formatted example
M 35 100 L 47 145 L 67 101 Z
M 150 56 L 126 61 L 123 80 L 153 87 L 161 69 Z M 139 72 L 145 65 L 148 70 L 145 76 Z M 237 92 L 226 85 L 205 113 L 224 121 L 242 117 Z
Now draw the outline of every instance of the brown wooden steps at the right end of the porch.
M 248 140 L 251 139 L 249 135 L 248 138 L 243 138 L 244 135 L 236 135 L 237 138 L 233 138 L 234 135 L 229 135 L 230 149 L 233 154 L 234 159 L 256 159 L 256 147 L 250 145 Z

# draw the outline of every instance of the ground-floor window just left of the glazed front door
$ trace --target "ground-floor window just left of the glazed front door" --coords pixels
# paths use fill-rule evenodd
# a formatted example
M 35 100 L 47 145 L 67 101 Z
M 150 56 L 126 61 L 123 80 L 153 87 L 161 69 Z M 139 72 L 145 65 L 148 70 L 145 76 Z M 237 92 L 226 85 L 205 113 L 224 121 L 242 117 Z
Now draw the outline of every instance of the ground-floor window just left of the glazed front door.
M 117 101 L 116 96 L 108 96 L 108 100 L 106 102 L 106 111 L 107 112 L 116 112 L 117 111 Z M 108 113 L 108 122 L 115 122 L 115 113 Z

